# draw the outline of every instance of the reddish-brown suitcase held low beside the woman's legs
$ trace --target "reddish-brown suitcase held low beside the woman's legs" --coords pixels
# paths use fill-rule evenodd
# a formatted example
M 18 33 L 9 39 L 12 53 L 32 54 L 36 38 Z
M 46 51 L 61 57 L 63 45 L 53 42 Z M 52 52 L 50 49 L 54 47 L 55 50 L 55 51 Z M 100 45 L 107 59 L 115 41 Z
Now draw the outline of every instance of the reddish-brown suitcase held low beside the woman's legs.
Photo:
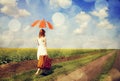
M 37 67 L 40 69 L 50 69 L 51 68 L 51 59 L 47 56 L 40 56 L 38 60 Z

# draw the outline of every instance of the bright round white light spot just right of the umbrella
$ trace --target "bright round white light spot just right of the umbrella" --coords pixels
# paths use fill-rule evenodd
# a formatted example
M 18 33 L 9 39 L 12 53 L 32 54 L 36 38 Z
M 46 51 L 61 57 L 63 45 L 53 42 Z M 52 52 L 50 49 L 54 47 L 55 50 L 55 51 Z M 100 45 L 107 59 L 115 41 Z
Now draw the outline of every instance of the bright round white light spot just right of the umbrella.
M 64 16 L 64 14 L 62 14 L 60 12 L 56 12 L 52 16 L 52 21 L 55 24 L 55 26 L 60 26 L 60 25 L 64 24 L 65 16 Z

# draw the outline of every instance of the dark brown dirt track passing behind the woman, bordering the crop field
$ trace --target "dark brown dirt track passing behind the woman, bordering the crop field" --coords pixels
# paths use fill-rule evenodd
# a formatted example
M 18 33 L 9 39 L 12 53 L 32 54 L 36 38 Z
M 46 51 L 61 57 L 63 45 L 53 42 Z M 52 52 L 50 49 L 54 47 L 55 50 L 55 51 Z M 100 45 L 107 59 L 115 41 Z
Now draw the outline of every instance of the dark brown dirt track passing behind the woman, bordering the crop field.
M 96 54 L 90 53 L 90 54 Z M 86 55 L 79 55 L 79 56 L 72 56 L 72 57 L 61 57 L 61 58 L 55 58 L 52 60 L 52 63 L 59 63 L 59 62 L 65 62 L 69 60 L 78 59 Z M 22 61 L 22 62 L 16 62 L 16 63 L 8 63 L 0 65 L 0 78 L 3 77 L 9 77 L 21 72 L 37 69 L 37 60 L 29 60 L 29 61 Z

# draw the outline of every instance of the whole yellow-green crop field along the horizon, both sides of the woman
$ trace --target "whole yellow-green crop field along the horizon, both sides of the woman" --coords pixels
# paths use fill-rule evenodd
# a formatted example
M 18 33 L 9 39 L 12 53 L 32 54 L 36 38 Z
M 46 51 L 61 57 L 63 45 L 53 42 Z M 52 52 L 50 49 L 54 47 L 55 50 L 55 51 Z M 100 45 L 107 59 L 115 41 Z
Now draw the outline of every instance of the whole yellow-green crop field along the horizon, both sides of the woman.
M 47 49 L 50 58 L 69 57 L 100 49 Z M 0 65 L 24 60 L 36 60 L 36 48 L 0 48 Z

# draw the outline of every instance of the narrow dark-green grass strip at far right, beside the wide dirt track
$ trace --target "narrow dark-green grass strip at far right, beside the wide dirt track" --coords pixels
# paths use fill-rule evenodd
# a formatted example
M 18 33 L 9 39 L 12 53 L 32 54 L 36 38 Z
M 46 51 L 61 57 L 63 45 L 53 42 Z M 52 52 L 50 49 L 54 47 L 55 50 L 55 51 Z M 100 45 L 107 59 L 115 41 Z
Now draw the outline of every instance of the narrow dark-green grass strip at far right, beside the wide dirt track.
M 109 76 L 108 72 L 112 69 L 117 53 L 113 54 L 112 57 L 104 64 L 102 73 L 94 81 L 106 81 Z

